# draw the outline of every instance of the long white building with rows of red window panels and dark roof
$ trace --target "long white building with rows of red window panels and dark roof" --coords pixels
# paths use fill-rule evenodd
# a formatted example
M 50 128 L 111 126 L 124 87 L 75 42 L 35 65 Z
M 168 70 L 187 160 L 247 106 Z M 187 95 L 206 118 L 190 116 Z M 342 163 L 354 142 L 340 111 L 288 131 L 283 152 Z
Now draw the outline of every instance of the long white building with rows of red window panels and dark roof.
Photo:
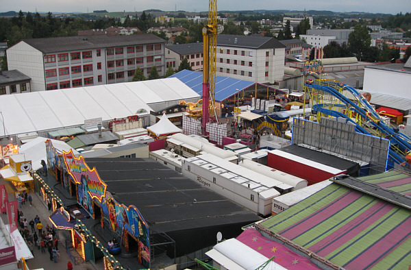
M 153 34 L 25 39 L 7 50 L 8 67 L 32 78 L 32 92 L 131 82 L 137 67 L 165 74 L 165 42 Z

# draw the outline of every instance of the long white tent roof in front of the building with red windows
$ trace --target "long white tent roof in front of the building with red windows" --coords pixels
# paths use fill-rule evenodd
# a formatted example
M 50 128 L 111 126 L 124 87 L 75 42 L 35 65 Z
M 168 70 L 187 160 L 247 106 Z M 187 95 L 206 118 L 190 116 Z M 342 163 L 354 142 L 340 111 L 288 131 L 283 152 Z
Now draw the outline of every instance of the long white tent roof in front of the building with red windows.
M 195 97 L 200 96 L 177 78 L 1 95 L 0 136 L 83 125 L 98 117 L 147 115 L 151 103 Z

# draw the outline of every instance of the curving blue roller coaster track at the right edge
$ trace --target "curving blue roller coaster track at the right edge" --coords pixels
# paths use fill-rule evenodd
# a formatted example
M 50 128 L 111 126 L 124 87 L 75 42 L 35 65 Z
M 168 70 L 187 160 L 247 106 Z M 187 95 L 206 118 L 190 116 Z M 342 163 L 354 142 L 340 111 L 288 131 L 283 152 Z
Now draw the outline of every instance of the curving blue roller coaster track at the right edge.
M 316 82 L 323 84 L 321 81 Z M 327 84 L 328 85 L 306 84 L 306 86 L 329 93 L 343 102 L 343 104 L 320 103 L 312 106 L 312 110 L 322 114 L 327 114 L 329 116 L 344 118 L 350 123 L 356 125 L 356 130 L 358 132 L 371 135 L 370 132 L 361 126 L 361 123 L 354 121 L 350 116 L 343 114 L 342 112 L 331 110 L 331 108 L 343 108 L 344 110 L 356 112 L 362 119 L 365 119 L 365 121 L 371 123 L 371 125 L 379 130 L 381 134 L 384 134 L 385 137 L 390 139 L 391 147 L 389 157 L 398 164 L 403 163 L 406 160 L 405 153 L 411 149 L 410 137 L 400 132 L 396 132 L 392 127 L 384 123 L 378 112 L 374 110 L 373 106 L 371 106 L 371 104 L 366 101 L 366 99 L 356 89 L 351 86 L 347 86 L 346 84 L 338 84 L 338 82 L 327 82 Z M 340 90 L 342 89 L 348 90 L 354 97 L 356 97 L 356 101 L 358 101 L 358 103 L 351 101 L 340 93 Z M 360 106 L 358 104 L 360 104 Z

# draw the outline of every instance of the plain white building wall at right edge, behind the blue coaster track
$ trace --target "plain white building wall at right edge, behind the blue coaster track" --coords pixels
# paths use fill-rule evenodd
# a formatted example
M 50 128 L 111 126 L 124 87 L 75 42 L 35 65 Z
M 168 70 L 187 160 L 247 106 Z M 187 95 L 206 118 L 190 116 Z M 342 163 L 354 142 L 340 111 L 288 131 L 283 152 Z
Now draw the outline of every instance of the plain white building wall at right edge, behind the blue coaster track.
M 410 98 L 411 74 L 401 71 L 395 72 L 365 68 L 364 91 Z

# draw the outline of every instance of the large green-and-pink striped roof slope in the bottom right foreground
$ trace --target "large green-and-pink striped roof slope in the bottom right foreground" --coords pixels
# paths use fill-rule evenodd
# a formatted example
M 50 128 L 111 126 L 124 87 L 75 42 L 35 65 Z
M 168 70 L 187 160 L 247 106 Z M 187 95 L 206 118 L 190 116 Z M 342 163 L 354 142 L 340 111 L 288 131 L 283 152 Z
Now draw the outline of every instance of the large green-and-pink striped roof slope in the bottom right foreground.
M 261 225 L 346 269 L 408 269 L 411 211 L 331 184 Z

